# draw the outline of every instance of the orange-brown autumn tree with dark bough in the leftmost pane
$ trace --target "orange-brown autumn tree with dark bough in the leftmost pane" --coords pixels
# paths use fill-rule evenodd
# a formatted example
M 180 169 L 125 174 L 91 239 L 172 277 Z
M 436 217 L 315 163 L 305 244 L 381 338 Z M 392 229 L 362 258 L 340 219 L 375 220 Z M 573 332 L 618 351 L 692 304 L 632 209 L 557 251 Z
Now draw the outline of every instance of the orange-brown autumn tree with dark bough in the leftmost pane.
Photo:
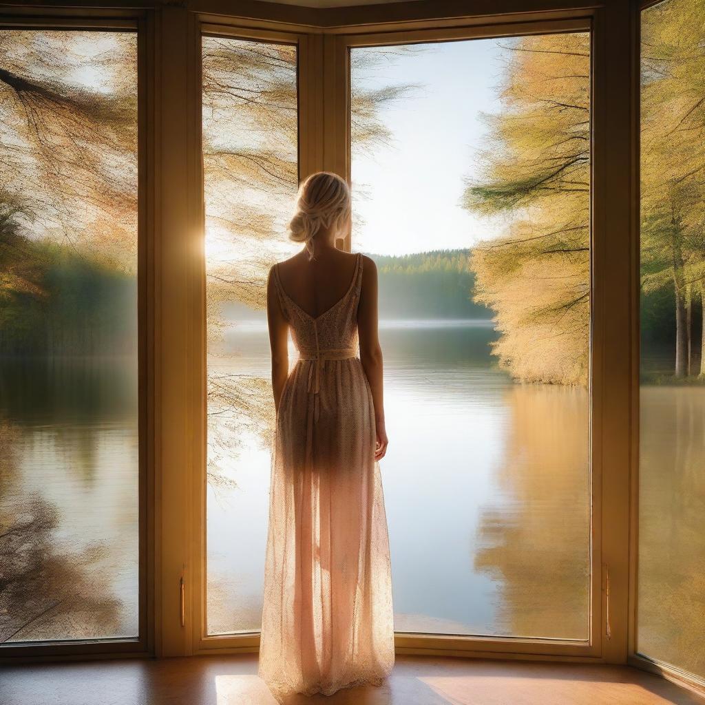
M 135 271 L 135 35 L 5 30 L 0 56 L 5 207 L 32 238 Z

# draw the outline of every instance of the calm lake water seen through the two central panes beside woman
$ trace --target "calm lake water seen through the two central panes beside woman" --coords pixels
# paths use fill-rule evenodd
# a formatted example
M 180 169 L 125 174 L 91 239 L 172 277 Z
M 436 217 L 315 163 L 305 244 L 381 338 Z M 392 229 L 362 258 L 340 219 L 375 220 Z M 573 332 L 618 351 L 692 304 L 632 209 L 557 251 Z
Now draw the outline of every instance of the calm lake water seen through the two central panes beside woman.
M 381 463 L 396 629 L 587 637 L 587 393 L 516 385 L 487 321 L 386 321 Z M 226 336 L 211 374 L 269 374 L 263 324 Z M 231 429 L 214 415 L 212 438 Z M 243 427 L 234 422 L 242 439 Z M 256 630 L 269 455 L 256 429 L 209 490 L 209 631 Z M 226 443 L 227 445 L 227 443 Z M 247 541 L 233 540 L 247 537 Z

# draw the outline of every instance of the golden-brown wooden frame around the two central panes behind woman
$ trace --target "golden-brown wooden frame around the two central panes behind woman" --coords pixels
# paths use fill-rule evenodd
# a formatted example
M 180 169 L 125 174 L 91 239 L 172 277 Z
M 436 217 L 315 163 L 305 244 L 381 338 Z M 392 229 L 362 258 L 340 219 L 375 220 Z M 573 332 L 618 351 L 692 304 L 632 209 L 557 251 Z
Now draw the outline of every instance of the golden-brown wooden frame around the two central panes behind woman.
M 503 3 L 512 5 L 512 3 Z M 418 5 L 418 4 L 416 4 Z M 399 44 L 410 42 L 451 41 L 453 39 L 472 39 L 479 37 L 497 37 L 539 34 L 549 31 L 589 30 L 592 37 L 592 100 L 593 100 L 593 153 L 592 153 L 592 183 L 594 185 L 592 202 L 592 424 L 591 424 L 591 465 L 592 465 L 592 542 L 596 550 L 591 551 L 591 599 L 590 599 L 590 630 L 589 639 L 577 642 L 564 639 L 522 639 L 513 637 L 465 637 L 451 635 L 406 634 L 396 635 L 398 653 L 405 654 L 436 654 L 452 656 L 485 656 L 501 658 L 558 658 L 574 661 L 618 661 L 626 659 L 627 620 L 626 591 L 627 583 L 615 584 L 615 575 L 627 575 L 628 534 L 625 531 L 628 523 L 628 505 L 620 505 L 618 498 L 628 498 L 628 458 L 630 438 L 628 428 L 630 418 L 620 412 L 628 409 L 630 391 L 628 376 L 625 378 L 622 369 L 613 369 L 615 347 L 622 346 L 622 354 L 630 343 L 624 335 L 616 341 L 610 340 L 610 331 L 623 331 L 622 323 L 629 317 L 628 290 L 624 286 L 623 272 L 619 274 L 611 262 L 619 262 L 619 253 L 615 252 L 615 243 L 625 244 L 625 233 L 620 232 L 613 223 L 630 222 L 630 204 L 615 202 L 612 196 L 615 184 L 620 183 L 624 192 L 632 188 L 632 174 L 628 170 L 631 162 L 629 150 L 615 149 L 613 145 L 620 142 L 620 137 L 628 131 L 626 120 L 618 123 L 618 130 L 612 129 L 613 121 L 607 119 L 608 99 L 614 102 L 611 94 L 611 82 L 624 82 L 628 72 L 608 72 L 609 55 L 618 44 L 619 27 L 610 30 L 613 16 L 621 20 L 622 26 L 628 24 L 629 13 L 626 4 L 620 13 L 615 13 L 610 6 L 596 3 L 591 8 L 563 8 L 560 11 L 534 11 L 526 14 L 510 16 L 501 13 L 497 4 L 492 6 L 488 15 L 476 15 L 463 18 L 462 21 L 422 20 L 419 23 L 408 21 L 385 23 L 384 25 L 366 25 L 364 27 L 348 27 L 332 23 L 330 27 L 317 27 L 311 32 L 310 27 L 282 24 L 271 17 L 269 8 L 259 8 L 264 18 L 219 18 L 214 23 L 213 16 L 202 15 L 201 29 L 208 33 L 215 31 L 223 36 L 242 39 L 262 39 L 263 41 L 284 41 L 287 37 L 298 37 L 302 42 L 307 37 L 307 44 L 299 44 L 300 52 L 306 46 L 313 56 L 323 56 L 322 71 L 315 71 L 315 59 L 307 63 L 304 54 L 300 54 L 299 91 L 300 106 L 312 107 L 309 114 L 301 113 L 300 125 L 300 157 L 314 154 L 314 159 L 301 159 L 300 176 L 310 171 L 325 168 L 336 171 L 349 178 L 350 173 L 350 82 L 348 72 L 348 56 L 350 47 L 369 46 L 371 44 Z M 419 27 L 419 24 L 422 26 Z M 289 29 L 290 34 L 283 30 Z M 302 35 L 302 30 L 306 29 Z M 372 30 L 372 31 L 371 31 Z M 289 39 L 287 43 L 293 43 Z M 305 68 L 304 68 L 305 67 Z M 321 75 L 322 74 L 322 75 Z M 615 80 L 610 81 L 610 77 Z M 612 90 L 614 90 L 612 88 Z M 319 95 L 317 92 L 321 92 Z M 311 102 L 305 98 L 311 98 Z M 627 92 L 627 99 L 630 98 Z M 199 95 L 200 100 L 200 95 Z M 631 104 L 624 101 L 623 118 L 630 118 Z M 322 119 L 321 119 L 322 115 Z M 315 137 L 319 139 L 316 140 Z M 313 141 L 313 143 L 312 143 Z M 625 164 L 625 158 L 627 162 Z M 625 168 L 627 167 L 627 168 Z M 612 183 L 610 183 L 612 182 Z M 607 213 L 619 210 L 620 217 L 608 218 Z M 350 243 L 346 243 L 348 248 Z M 623 253 L 622 253 L 623 254 Z M 624 264 L 622 259 L 621 264 Z M 620 286 L 617 280 L 622 277 Z M 611 289 L 611 287 L 613 287 Z M 201 288 L 202 311 L 204 312 L 204 287 Z M 612 305 L 615 290 L 619 292 L 622 306 Z M 611 305 L 607 305 L 611 302 Z M 613 315 L 614 314 L 614 315 Z M 202 316 L 204 318 L 204 314 Z M 199 339 L 204 345 L 204 331 L 200 331 Z M 609 343 L 608 343 L 609 341 Z M 204 351 L 204 348 L 202 348 Z M 203 352 L 201 358 L 204 359 Z M 628 359 L 628 357 L 627 357 Z M 199 375 L 200 384 L 204 384 L 204 374 Z M 202 419 L 197 427 L 205 434 L 204 387 L 200 394 Z M 618 418 L 618 422 L 614 419 Z M 620 434 L 620 429 L 623 435 Z M 204 449 L 205 436 L 195 443 L 200 448 L 200 457 L 194 463 L 194 468 L 200 468 L 200 473 L 194 475 L 195 486 L 193 496 L 197 498 L 197 506 L 193 523 L 193 534 L 204 534 Z M 624 460 L 627 460 L 625 463 Z M 621 465 L 620 465 L 621 462 Z M 621 470 L 620 470 L 621 467 Z M 205 600 L 204 600 L 204 560 L 205 553 L 201 546 L 192 564 L 197 566 L 191 608 L 194 612 L 195 632 L 192 633 L 192 653 L 229 653 L 238 651 L 257 651 L 258 634 L 248 635 L 217 635 L 208 636 L 205 631 Z M 606 639 L 605 615 L 607 613 L 606 582 L 608 566 L 611 568 L 611 635 Z M 613 568 L 614 566 L 614 568 Z

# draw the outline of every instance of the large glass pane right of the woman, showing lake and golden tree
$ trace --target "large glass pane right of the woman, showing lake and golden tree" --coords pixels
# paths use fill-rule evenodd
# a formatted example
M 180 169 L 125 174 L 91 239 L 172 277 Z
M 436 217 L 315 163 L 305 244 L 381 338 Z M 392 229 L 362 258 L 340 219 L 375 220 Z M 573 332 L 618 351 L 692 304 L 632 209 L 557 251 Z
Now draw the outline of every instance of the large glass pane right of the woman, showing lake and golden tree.
M 396 630 L 587 639 L 589 35 L 351 63 Z

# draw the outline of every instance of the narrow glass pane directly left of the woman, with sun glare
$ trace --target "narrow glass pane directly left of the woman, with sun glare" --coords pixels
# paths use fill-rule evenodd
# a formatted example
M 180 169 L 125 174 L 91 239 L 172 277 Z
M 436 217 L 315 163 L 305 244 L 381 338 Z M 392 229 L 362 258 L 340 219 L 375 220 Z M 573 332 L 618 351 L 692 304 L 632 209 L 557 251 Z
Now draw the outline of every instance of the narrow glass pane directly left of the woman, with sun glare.
M 296 49 L 203 38 L 207 632 L 257 631 L 269 511 L 266 275 L 298 187 Z

